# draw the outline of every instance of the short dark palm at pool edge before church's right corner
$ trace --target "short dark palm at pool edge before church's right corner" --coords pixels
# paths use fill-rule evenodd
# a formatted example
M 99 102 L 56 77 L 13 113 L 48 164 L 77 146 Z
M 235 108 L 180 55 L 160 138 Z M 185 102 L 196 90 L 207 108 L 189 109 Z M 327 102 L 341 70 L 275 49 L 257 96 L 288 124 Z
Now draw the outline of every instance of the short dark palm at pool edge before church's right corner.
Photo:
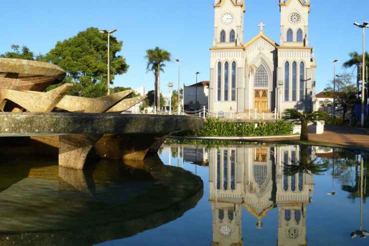
M 294 120 L 299 121 L 301 123 L 301 134 L 300 140 L 308 141 L 308 123 L 325 120 L 327 115 L 324 112 L 316 111 L 312 113 L 300 113 L 294 109 L 288 109 L 285 111 L 285 116 L 283 117 L 285 120 Z

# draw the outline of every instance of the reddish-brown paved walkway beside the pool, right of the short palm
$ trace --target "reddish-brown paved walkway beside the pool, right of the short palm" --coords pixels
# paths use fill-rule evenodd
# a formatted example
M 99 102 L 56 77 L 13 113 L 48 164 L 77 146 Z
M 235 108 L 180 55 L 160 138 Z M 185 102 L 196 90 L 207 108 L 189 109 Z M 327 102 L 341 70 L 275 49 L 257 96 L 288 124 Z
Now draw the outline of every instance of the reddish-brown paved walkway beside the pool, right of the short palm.
M 273 140 L 298 140 L 299 137 L 290 138 L 272 138 Z M 346 146 L 358 146 L 369 149 L 369 129 L 355 128 L 341 125 L 326 125 L 324 134 L 309 134 L 309 140 L 317 142 L 325 142 L 331 144 L 340 144 Z

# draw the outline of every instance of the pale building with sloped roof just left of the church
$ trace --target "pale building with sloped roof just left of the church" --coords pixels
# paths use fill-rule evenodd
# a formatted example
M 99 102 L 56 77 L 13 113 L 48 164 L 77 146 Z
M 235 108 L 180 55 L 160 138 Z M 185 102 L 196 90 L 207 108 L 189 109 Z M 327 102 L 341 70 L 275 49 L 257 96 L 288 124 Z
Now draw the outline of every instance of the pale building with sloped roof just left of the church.
M 188 110 L 207 108 L 209 96 L 209 81 L 201 81 L 196 84 L 184 86 L 184 108 Z M 197 100 L 197 103 L 196 103 Z

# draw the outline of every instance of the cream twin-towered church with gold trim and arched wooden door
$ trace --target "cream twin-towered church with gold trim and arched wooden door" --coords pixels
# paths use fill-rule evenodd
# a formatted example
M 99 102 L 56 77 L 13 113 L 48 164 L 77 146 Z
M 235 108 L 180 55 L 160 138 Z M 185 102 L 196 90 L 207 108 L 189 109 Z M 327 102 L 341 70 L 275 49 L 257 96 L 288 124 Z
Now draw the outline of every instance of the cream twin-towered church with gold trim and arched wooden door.
M 245 0 L 214 2 L 209 111 L 311 112 L 316 64 L 313 48 L 309 46 L 310 0 L 279 0 L 279 44 L 264 33 L 262 22 L 259 33 L 244 42 L 245 4 Z

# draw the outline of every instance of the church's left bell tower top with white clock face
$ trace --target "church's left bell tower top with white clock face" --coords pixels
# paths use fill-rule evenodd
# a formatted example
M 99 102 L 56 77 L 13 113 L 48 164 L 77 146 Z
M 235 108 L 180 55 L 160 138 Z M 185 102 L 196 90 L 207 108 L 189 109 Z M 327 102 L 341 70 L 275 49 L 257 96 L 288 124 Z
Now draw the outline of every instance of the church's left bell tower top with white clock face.
M 244 0 L 214 0 L 213 47 L 243 44 Z

